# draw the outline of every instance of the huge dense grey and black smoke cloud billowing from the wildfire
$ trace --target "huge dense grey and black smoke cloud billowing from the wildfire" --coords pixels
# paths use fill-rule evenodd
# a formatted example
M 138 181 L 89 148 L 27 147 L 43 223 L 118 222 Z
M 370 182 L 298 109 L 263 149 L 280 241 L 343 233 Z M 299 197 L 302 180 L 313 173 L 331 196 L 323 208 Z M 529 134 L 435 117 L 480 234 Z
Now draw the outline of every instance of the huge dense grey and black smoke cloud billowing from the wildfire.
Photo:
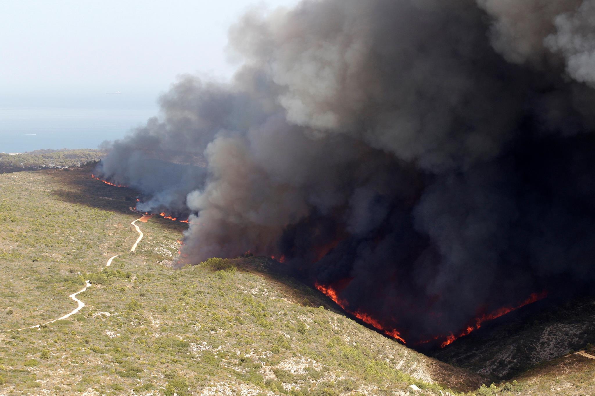
M 192 264 L 284 256 L 425 340 L 594 279 L 595 2 L 322 0 L 230 29 L 104 178 L 192 213 Z M 167 162 L 175 164 L 167 164 Z

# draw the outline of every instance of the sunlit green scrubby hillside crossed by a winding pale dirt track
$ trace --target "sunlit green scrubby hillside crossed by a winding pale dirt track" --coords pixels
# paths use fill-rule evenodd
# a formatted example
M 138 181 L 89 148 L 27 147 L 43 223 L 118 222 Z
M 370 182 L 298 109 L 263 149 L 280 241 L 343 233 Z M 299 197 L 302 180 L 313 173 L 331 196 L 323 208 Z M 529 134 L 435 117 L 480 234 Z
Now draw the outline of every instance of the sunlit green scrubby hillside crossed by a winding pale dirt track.
M 137 223 L 129 252 L 136 192 L 90 172 L 0 175 L 0 395 L 439 395 L 486 381 L 346 318 L 271 259 L 173 270 L 186 224 Z M 9 331 L 72 311 L 87 279 L 76 315 Z

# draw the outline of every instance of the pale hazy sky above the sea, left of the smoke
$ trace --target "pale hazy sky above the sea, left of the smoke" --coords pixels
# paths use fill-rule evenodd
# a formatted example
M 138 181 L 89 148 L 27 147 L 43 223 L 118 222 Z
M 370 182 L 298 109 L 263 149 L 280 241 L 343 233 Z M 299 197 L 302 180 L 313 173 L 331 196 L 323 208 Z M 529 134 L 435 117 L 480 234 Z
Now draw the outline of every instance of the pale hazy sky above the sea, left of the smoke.
M 154 103 L 178 74 L 228 78 L 230 24 L 252 5 L 296 3 L 0 0 L 0 106 L 109 91 Z

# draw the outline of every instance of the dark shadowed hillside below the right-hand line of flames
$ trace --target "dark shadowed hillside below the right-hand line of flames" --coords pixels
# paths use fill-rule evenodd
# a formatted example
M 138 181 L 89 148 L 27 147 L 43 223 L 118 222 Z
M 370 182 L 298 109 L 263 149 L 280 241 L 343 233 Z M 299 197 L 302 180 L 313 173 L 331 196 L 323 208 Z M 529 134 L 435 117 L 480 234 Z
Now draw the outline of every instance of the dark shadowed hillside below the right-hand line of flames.
M 595 301 L 527 306 L 433 354 L 494 379 L 510 379 L 595 341 Z

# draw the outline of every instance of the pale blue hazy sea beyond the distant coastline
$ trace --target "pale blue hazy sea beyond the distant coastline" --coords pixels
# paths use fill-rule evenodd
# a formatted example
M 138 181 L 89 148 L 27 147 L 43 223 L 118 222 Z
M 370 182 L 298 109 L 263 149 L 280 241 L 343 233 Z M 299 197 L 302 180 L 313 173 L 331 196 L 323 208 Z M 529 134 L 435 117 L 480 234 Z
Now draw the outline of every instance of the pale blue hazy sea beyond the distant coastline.
M 0 153 L 25 153 L 45 148 L 98 148 L 101 142 L 121 139 L 134 128 L 144 125 L 152 116 L 158 115 L 158 108 L 154 104 L 82 104 L 0 104 Z

